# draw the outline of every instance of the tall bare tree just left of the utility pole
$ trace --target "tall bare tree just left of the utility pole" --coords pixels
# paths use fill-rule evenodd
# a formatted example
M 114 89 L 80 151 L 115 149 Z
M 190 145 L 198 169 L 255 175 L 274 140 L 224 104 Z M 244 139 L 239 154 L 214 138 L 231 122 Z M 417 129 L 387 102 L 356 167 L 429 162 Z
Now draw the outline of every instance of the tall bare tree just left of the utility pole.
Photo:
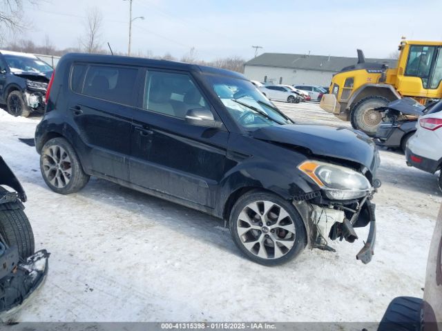
M 102 41 L 100 41 L 102 23 L 102 12 L 97 7 L 90 8 L 84 23 L 84 36 L 79 39 L 79 44 L 84 52 L 102 52 Z

